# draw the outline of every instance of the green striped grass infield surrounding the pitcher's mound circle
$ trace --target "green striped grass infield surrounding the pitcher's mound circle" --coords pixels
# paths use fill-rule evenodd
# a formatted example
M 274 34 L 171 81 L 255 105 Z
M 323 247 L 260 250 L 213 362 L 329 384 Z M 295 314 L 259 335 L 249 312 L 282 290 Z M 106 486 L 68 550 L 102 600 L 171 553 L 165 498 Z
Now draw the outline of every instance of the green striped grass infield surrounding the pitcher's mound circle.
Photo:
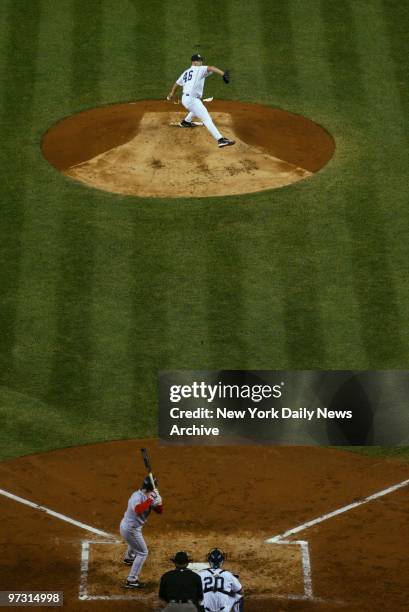
M 1 0 L 0 458 L 155 436 L 158 369 L 409 368 L 408 31 L 395 0 Z M 53 123 L 164 98 L 197 50 L 232 70 L 208 95 L 313 119 L 331 162 L 165 201 L 44 160 Z

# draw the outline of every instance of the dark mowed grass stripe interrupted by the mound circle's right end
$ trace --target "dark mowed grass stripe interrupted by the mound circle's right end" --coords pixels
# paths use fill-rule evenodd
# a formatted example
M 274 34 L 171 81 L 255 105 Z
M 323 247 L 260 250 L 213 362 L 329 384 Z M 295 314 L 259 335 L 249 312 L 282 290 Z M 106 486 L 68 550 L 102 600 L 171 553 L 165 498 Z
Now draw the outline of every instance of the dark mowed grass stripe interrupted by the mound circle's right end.
M 312 24 L 311 28 L 305 27 L 306 20 Z M 312 5 L 291 3 L 284 24 L 292 45 L 291 72 L 297 75 L 292 99 L 297 100 L 299 112 L 320 120 L 322 113 L 316 102 L 324 91 L 327 93 L 330 79 L 325 58 L 321 56 L 320 16 Z M 320 73 L 319 83 L 314 71 Z M 327 338 L 323 329 L 321 295 L 327 288 L 325 284 L 322 286 L 323 282 L 328 282 L 328 278 L 323 278 L 320 266 L 328 243 L 321 239 L 320 223 L 328 214 L 328 206 L 319 196 L 311 206 L 303 201 L 303 194 L 311 190 L 316 193 L 317 188 L 319 181 L 313 177 L 299 184 L 291 194 L 285 190 L 283 201 L 288 208 L 285 214 L 281 209 L 279 220 L 274 224 L 274 242 L 280 245 L 274 258 L 274 278 L 281 296 L 283 320 L 274 321 L 273 325 L 278 331 L 283 330 L 285 356 L 282 361 L 286 367 L 301 369 L 321 368 L 326 363 Z

